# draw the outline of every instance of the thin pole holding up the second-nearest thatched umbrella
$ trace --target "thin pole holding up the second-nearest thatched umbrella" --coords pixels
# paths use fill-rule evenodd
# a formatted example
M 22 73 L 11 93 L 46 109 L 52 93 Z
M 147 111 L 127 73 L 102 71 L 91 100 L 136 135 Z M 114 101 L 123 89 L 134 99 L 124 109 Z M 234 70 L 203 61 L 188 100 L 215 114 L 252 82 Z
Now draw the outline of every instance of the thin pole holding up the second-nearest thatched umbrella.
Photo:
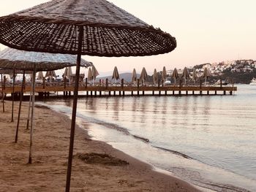
M 34 128 L 34 90 L 36 79 L 36 67 L 33 72 L 33 91 L 32 91 L 32 109 L 31 109 L 31 128 L 30 128 L 30 144 L 29 144 L 29 164 L 32 164 L 32 144 L 33 144 L 33 128 Z

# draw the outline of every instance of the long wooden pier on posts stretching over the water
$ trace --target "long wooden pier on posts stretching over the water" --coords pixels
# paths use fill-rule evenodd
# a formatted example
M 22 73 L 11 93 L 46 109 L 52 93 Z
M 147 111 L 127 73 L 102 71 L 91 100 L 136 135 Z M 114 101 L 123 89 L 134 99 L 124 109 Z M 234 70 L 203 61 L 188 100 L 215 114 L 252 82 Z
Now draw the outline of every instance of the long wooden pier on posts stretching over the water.
M 2 91 L 6 94 L 19 94 L 21 85 L 3 86 Z M 23 93 L 29 93 L 31 91 L 30 85 L 26 85 L 23 89 Z M 39 96 L 49 96 L 49 93 L 63 92 L 64 96 L 72 95 L 74 91 L 73 85 L 67 85 L 67 83 L 56 83 L 55 85 L 38 84 L 35 91 Z M 79 94 L 84 96 L 144 96 L 144 95 L 232 95 L 237 88 L 234 86 L 222 86 L 222 85 L 125 85 L 124 81 L 118 85 L 109 85 L 108 81 L 105 85 L 89 85 L 88 83 L 80 83 Z M 83 92 L 82 92 L 83 91 Z

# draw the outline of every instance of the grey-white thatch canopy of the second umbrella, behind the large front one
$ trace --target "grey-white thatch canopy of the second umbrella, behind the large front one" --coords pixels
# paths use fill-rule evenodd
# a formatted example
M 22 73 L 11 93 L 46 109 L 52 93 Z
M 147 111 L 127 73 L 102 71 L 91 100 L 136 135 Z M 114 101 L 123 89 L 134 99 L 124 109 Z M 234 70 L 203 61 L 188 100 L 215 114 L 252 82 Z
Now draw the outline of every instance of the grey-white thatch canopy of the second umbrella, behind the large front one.
M 64 68 L 65 66 L 75 66 L 75 55 L 39 53 L 32 51 L 15 50 L 6 48 L 0 52 L 0 68 L 20 69 L 33 71 L 52 71 Z M 92 66 L 92 63 L 81 59 L 81 66 Z

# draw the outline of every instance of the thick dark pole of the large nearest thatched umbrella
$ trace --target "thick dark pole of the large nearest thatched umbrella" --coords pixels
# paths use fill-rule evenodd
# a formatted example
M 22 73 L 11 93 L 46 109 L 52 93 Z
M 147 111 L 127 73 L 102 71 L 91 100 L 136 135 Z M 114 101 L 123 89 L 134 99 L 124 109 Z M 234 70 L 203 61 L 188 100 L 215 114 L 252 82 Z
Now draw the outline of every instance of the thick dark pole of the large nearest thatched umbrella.
M 73 147 L 74 147 L 74 139 L 75 139 L 74 138 L 75 137 L 75 118 L 76 118 L 77 105 L 78 105 L 78 86 L 79 86 L 82 40 L 83 40 L 83 26 L 80 26 L 79 38 L 78 38 L 78 57 L 77 57 L 77 66 L 76 66 L 76 72 L 75 72 L 75 88 L 74 88 L 73 107 L 72 107 L 72 120 L 71 120 L 70 140 L 69 140 L 69 159 L 67 164 L 66 192 L 69 192 L 69 189 L 70 189 L 72 156 L 73 156 Z

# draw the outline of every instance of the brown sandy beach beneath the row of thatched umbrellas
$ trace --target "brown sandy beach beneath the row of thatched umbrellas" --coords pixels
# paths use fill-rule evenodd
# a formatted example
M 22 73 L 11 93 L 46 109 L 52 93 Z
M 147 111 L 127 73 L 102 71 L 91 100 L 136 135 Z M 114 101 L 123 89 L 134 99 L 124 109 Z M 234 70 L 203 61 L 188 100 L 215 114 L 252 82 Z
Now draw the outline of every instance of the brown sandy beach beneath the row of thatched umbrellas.
M 5 101 L 6 111 L 3 113 L 0 108 L 0 191 L 64 191 L 69 118 L 45 107 L 35 108 L 32 164 L 27 164 L 27 103 L 22 105 L 18 143 L 14 142 L 18 101 L 15 102 L 14 122 L 11 122 L 11 106 L 10 101 Z M 175 177 L 152 171 L 148 164 L 104 142 L 91 140 L 87 132 L 77 126 L 70 191 L 198 190 Z

